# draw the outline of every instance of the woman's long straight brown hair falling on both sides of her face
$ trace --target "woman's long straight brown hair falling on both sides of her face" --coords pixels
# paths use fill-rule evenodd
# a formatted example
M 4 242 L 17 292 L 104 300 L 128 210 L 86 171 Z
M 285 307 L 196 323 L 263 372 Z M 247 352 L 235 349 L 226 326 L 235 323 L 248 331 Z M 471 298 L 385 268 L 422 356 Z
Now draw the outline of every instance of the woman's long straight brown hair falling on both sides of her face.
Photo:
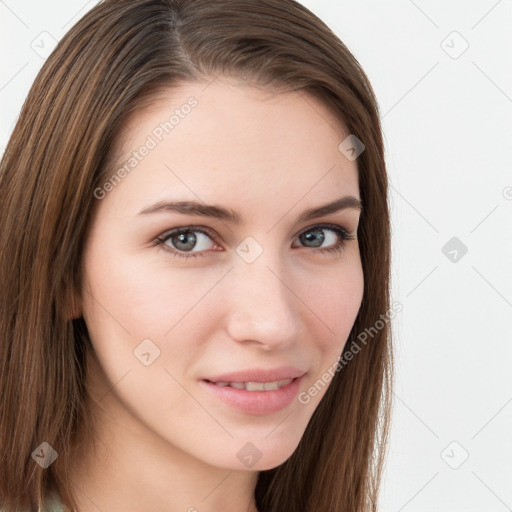
M 66 475 L 88 430 L 92 346 L 83 318 L 64 311 L 79 291 L 94 190 L 108 178 L 115 136 L 162 89 L 221 74 L 313 95 L 365 146 L 357 159 L 364 296 L 347 347 L 375 332 L 340 362 L 291 457 L 260 472 L 258 509 L 377 510 L 393 382 L 382 322 L 391 309 L 390 224 L 379 112 L 354 56 L 294 0 L 105 0 L 44 63 L 0 166 L 4 510 L 37 510 L 54 491 L 76 508 Z M 33 456 L 41 443 L 58 454 L 47 468 Z

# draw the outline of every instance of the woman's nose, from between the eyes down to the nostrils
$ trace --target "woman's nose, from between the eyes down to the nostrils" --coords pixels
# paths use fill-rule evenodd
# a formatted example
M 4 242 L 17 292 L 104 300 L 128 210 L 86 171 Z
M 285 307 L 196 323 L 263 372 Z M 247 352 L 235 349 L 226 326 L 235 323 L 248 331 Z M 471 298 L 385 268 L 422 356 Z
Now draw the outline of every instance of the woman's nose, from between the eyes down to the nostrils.
M 278 258 L 265 251 L 256 261 L 236 261 L 224 280 L 227 330 L 231 339 L 264 350 L 290 348 L 299 338 L 301 307 L 297 285 Z

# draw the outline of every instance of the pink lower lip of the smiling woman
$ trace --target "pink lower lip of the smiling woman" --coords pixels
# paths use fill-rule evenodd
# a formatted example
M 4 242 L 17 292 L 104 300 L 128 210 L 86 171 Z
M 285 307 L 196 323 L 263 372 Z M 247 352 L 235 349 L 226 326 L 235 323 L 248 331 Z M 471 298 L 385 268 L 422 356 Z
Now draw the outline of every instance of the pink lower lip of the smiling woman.
M 290 405 L 297 396 L 302 377 L 297 377 L 282 388 L 270 391 L 247 391 L 246 389 L 236 389 L 229 386 L 217 386 L 206 380 L 202 380 L 201 385 L 208 392 L 213 393 L 239 411 L 246 414 L 264 415 L 280 411 Z

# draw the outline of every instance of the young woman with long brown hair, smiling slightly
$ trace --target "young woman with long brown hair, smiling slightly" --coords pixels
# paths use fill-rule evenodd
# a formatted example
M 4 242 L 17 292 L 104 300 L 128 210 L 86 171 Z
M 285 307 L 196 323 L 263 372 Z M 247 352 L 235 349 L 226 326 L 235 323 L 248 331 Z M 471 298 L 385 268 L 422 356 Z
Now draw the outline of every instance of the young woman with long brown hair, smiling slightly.
M 322 21 L 101 2 L 36 78 L 0 190 L 2 510 L 377 510 L 387 176 Z

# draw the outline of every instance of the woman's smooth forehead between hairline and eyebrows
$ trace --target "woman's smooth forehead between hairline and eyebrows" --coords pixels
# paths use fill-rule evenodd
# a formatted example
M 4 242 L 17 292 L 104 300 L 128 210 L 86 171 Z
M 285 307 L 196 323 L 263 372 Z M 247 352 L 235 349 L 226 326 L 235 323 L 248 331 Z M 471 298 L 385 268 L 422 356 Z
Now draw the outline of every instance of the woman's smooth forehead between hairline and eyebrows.
M 172 196 L 243 198 L 263 206 L 262 199 L 304 197 L 307 207 L 308 195 L 315 203 L 338 192 L 358 197 L 357 163 L 338 149 L 347 135 L 328 107 L 304 92 L 187 83 L 161 91 L 126 120 L 110 172 L 127 172 L 109 200 L 128 195 L 144 207 Z

